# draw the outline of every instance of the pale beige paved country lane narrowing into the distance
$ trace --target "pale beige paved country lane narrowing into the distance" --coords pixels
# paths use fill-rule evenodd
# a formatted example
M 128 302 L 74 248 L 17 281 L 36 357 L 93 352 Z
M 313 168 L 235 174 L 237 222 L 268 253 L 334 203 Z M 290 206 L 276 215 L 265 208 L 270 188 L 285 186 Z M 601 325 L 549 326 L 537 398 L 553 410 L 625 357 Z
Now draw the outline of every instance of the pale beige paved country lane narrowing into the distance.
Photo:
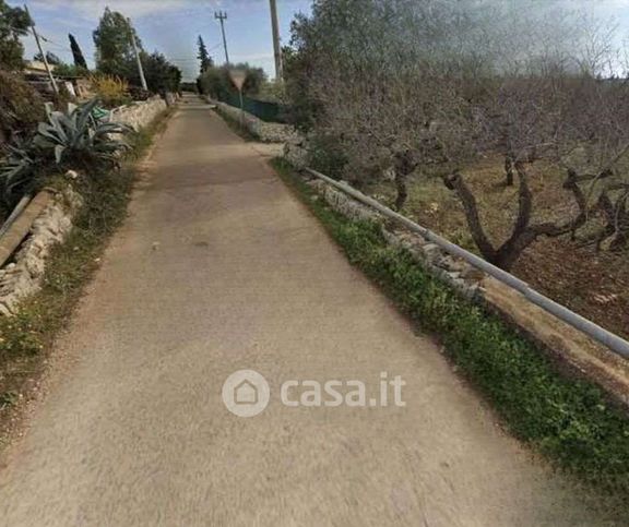
M 146 166 L 1 525 L 598 525 L 206 105 Z

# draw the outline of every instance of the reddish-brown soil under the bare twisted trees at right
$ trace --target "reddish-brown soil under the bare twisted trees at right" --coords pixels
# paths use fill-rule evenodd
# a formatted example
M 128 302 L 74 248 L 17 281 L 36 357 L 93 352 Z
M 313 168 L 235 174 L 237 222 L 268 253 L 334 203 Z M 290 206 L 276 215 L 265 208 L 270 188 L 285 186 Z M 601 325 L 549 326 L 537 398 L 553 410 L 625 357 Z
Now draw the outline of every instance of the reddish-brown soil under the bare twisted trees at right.
M 486 158 L 462 172 L 475 191 L 482 218 L 494 242 L 510 233 L 518 211 L 518 187 L 503 183 L 502 160 Z M 538 164 L 531 170 L 534 219 L 551 220 L 577 214 L 572 194 L 562 190 L 562 173 Z M 418 173 L 411 182 L 404 214 L 451 241 L 477 252 L 463 208 L 440 179 Z M 369 191 L 384 201 L 394 195 L 392 184 Z M 541 239 L 531 245 L 513 274 L 557 302 L 609 331 L 629 338 L 629 254 L 600 252 L 579 247 L 569 237 Z

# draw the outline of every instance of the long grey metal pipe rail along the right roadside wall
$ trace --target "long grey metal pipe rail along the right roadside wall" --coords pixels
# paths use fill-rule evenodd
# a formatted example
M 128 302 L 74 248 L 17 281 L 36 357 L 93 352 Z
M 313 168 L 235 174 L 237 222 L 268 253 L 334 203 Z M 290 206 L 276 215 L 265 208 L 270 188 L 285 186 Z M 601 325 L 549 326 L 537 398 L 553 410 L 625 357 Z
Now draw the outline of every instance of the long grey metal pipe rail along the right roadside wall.
M 317 170 L 312 170 L 311 168 L 306 168 L 306 171 L 311 176 L 314 176 L 316 178 L 321 179 L 322 181 L 325 181 L 332 187 L 345 192 L 347 195 L 354 197 L 360 203 L 375 208 L 383 216 L 394 219 L 410 231 L 423 236 L 425 239 L 431 241 L 432 243 L 440 247 L 451 255 L 465 260 L 474 267 L 483 271 L 484 273 L 487 273 L 489 276 L 492 276 L 502 284 L 517 290 L 535 306 L 557 316 L 559 320 L 566 322 L 575 330 L 579 330 L 580 332 L 586 334 L 597 343 L 609 348 L 615 354 L 626 359 L 629 359 L 629 343 L 624 338 L 619 337 L 618 335 L 608 332 L 607 330 L 601 327 L 594 322 L 581 316 L 578 313 L 574 313 L 573 311 L 570 311 L 568 308 L 555 302 L 554 300 L 550 300 L 549 298 L 536 291 L 535 289 L 530 287 L 529 284 L 517 278 L 512 274 L 507 273 L 506 271 L 502 271 L 499 267 L 496 267 L 489 262 L 483 260 L 480 256 L 477 256 L 476 254 L 473 254 L 470 251 L 466 251 L 465 249 L 448 241 L 447 239 L 440 237 L 439 235 L 432 232 L 431 230 L 422 227 L 420 225 L 417 225 L 415 221 L 412 221 L 411 219 L 408 219 L 405 216 L 402 216 L 401 214 L 397 214 L 396 212 L 382 205 L 380 202 L 373 200 L 372 197 L 363 194 L 361 192 L 357 191 L 356 189 L 345 183 L 344 181 L 336 181 L 321 172 L 318 172 Z

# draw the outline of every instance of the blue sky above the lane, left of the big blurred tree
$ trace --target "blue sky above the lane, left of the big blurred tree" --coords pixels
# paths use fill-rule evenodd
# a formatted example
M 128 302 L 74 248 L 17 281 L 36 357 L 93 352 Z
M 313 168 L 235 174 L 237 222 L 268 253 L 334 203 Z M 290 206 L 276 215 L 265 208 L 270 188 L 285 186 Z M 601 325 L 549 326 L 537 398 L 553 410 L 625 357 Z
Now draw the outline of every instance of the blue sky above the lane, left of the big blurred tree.
M 199 73 L 197 38 L 203 37 L 216 63 L 225 61 L 221 25 L 215 11 L 227 12 L 225 33 L 232 62 L 249 62 L 275 75 L 273 40 L 268 0 L 9 0 L 10 5 L 28 5 L 37 32 L 48 41 L 45 49 L 72 63 L 68 33 L 72 33 L 88 65 L 94 65 L 92 32 L 108 5 L 129 16 L 146 51 L 161 51 L 183 72 L 185 80 Z M 281 38 L 287 44 L 290 21 L 309 13 L 310 0 L 277 0 Z M 24 38 L 25 58 L 36 53 L 35 39 Z

